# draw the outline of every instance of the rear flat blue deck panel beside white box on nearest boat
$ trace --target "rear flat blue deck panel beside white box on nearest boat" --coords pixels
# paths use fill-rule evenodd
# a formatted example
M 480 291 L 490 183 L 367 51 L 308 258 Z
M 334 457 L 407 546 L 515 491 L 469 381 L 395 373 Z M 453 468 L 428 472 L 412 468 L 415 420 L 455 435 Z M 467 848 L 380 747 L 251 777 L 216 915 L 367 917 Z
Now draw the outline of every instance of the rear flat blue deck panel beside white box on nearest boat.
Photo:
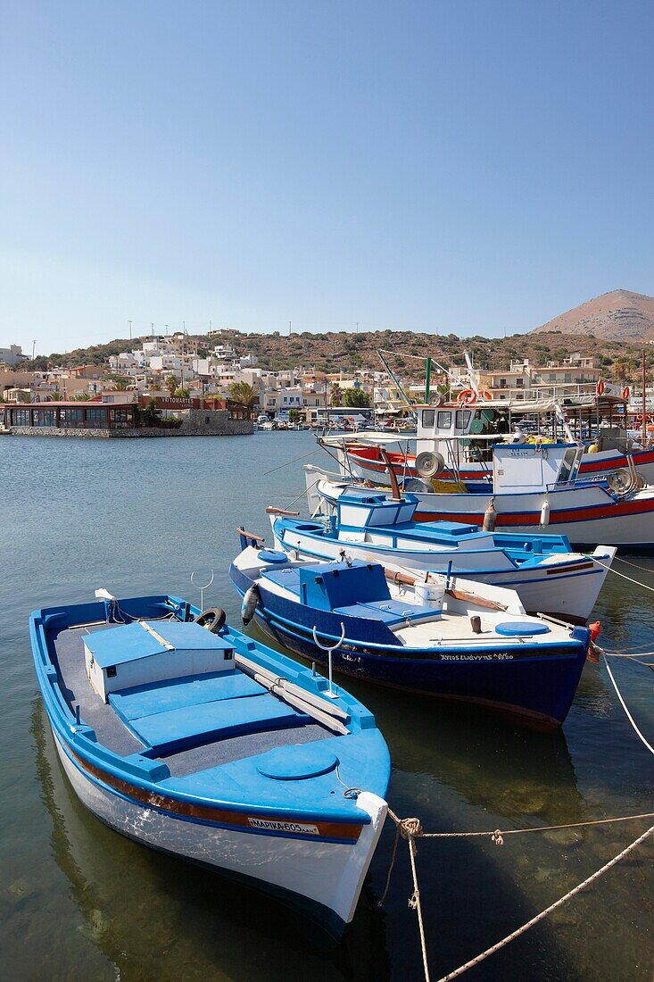
M 171 709 L 197 706 L 204 702 L 262 695 L 265 689 L 238 669 L 215 675 L 186 676 L 183 679 L 136 685 L 111 692 L 109 704 L 118 716 L 130 723 L 143 716 L 154 716 Z

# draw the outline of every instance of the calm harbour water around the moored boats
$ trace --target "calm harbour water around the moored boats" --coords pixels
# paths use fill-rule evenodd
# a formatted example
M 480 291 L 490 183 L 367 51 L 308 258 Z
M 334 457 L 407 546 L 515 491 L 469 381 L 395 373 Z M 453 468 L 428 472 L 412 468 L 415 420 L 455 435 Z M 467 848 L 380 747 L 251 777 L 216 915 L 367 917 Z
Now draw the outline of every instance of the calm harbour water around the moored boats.
M 3 979 L 419 979 L 406 846 L 383 910 L 387 826 L 354 924 L 337 949 L 297 916 L 218 876 L 158 855 L 88 814 L 56 760 L 27 636 L 35 607 L 168 591 L 196 600 L 191 571 L 215 570 L 205 606 L 239 625 L 227 571 L 238 524 L 270 539 L 266 505 L 289 507 L 311 454 L 305 433 L 253 437 L 0 440 L 0 977 Z M 319 452 L 318 452 L 319 453 Z M 320 458 L 306 457 L 316 463 Z M 301 501 L 300 501 L 301 505 Z M 621 572 L 654 583 L 651 570 Z M 651 594 L 609 575 L 596 611 L 609 648 L 654 649 Z M 653 660 L 653 659 L 650 659 Z M 654 737 L 654 673 L 615 674 Z M 553 825 L 654 811 L 654 758 L 637 741 L 603 668 L 586 665 L 563 732 L 539 735 L 492 716 L 350 680 L 376 714 L 394 764 L 389 800 L 427 830 Z M 647 827 L 419 845 L 432 978 L 513 931 Z M 470 979 L 651 979 L 654 843 Z

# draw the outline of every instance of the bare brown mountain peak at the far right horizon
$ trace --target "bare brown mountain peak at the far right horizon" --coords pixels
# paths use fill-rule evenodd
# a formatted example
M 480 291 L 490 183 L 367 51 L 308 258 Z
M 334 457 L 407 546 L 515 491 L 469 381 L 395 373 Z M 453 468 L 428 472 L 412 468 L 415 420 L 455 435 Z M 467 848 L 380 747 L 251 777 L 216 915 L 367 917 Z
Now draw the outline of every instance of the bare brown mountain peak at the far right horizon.
M 562 313 L 532 334 L 561 331 L 612 341 L 654 340 L 654 297 L 612 290 Z

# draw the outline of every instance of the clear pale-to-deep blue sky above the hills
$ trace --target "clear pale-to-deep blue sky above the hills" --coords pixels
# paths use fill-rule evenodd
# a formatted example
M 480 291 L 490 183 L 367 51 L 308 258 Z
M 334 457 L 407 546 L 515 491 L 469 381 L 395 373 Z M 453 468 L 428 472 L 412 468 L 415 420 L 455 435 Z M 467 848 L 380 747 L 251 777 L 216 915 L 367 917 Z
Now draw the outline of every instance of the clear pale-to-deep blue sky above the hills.
M 644 0 L 2 11 L 0 346 L 500 335 L 654 293 Z

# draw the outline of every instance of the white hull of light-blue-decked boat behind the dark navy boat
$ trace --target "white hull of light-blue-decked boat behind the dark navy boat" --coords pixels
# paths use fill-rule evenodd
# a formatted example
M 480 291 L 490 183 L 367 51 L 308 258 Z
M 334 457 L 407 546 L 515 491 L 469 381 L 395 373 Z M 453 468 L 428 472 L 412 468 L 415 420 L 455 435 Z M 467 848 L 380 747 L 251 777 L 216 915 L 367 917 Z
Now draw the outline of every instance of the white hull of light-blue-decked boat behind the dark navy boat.
M 329 539 L 316 543 L 315 538 L 302 536 L 296 531 L 286 535 L 284 541 L 276 534 L 275 544 L 285 551 L 290 548 L 297 550 L 300 558 L 339 559 L 342 550 L 345 549 L 348 556 L 353 559 L 392 563 L 410 571 L 446 573 L 448 564 L 452 563 L 452 573 L 516 590 L 526 611 L 555 614 L 582 622 L 590 617 L 615 555 L 614 549 L 600 546 L 597 550 L 597 558 L 604 564 L 601 566 L 593 557 L 569 553 L 566 556 L 566 563 L 569 567 L 572 564 L 572 570 L 562 569 L 557 572 L 557 562 L 560 562 L 561 558 L 548 560 L 537 568 L 517 570 L 511 566 L 506 557 L 502 557 L 507 568 L 497 569 L 500 565 L 497 554 L 493 552 L 488 555 L 485 550 L 465 553 L 462 556 L 459 550 L 446 550 L 443 553 L 403 551 L 385 549 L 383 546 L 371 547 L 369 543 L 359 544 Z M 319 556 L 316 556 L 316 553 L 319 553 Z

